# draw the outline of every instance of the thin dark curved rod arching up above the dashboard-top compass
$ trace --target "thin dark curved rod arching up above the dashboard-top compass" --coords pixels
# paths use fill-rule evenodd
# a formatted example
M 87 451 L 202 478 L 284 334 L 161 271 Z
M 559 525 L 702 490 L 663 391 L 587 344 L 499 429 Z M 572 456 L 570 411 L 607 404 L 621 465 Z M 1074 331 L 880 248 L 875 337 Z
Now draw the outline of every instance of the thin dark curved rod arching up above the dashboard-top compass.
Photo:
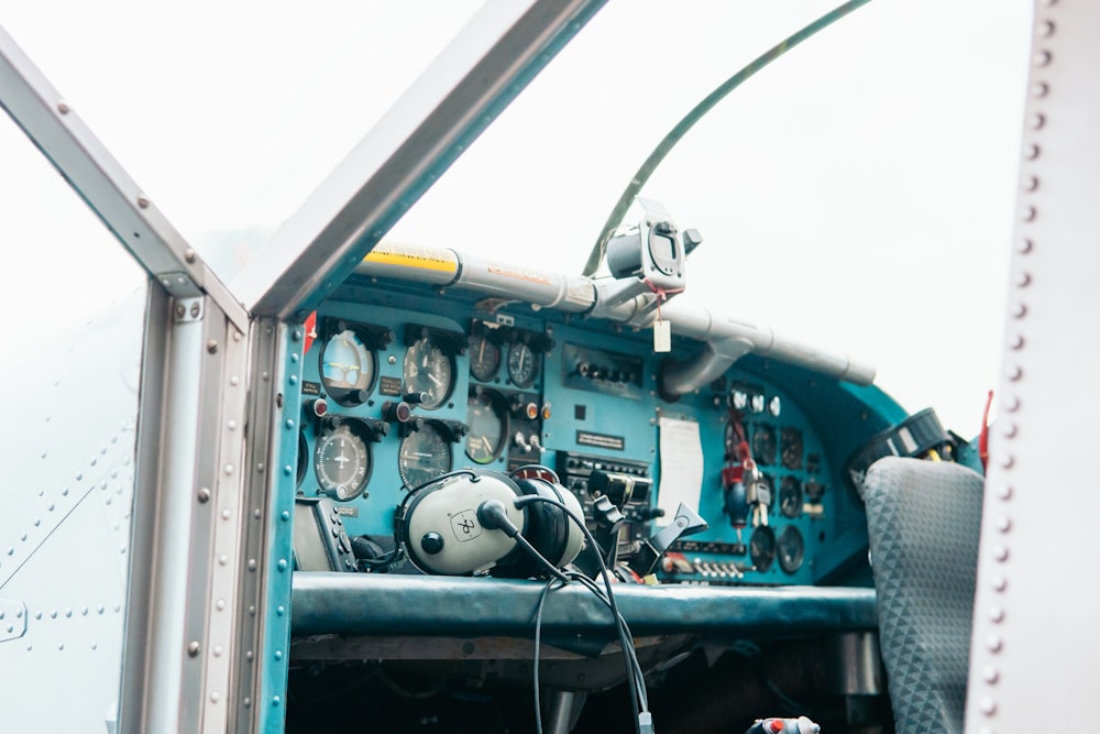
M 623 217 L 626 216 L 627 209 L 630 208 L 634 197 L 637 196 L 638 191 L 641 190 L 641 187 L 646 185 L 649 177 L 653 175 L 653 171 L 656 171 L 657 166 L 661 164 L 664 156 L 672 151 L 673 146 L 680 142 L 680 139 L 688 134 L 688 131 L 691 130 L 704 114 L 711 111 L 711 108 L 722 101 L 726 95 L 741 86 L 741 84 L 748 80 L 757 72 L 771 64 L 788 51 L 813 36 L 818 31 L 832 25 L 835 21 L 844 18 L 851 11 L 858 9 L 860 6 L 867 4 L 869 1 L 870 0 L 850 0 L 850 2 L 846 2 L 838 8 L 834 8 L 810 25 L 803 28 L 798 33 L 788 36 L 779 44 L 754 58 L 747 66 L 718 85 L 714 91 L 703 98 L 703 101 L 692 108 L 692 110 L 685 114 L 671 131 L 669 131 L 669 134 L 667 134 L 664 139 L 658 143 L 657 147 L 653 149 L 653 152 L 649 154 L 648 158 L 646 158 L 646 162 L 641 164 L 640 168 L 638 168 L 638 173 L 636 173 L 630 179 L 630 183 L 626 185 L 626 188 L 623 190 L 622 196 L 619 196 L 618 201 L 615 202 L 615 207 L 612 209 L 610 216 L 607 217 L 607 221 L 604 222 L 604 227 L 600 231 L 600 237 L 596 238 L 596 244 L 592 248 L 592 253 L 588 255 L 588 262 L 584 264 L 582 275 L 586 277 L 595 275 L 596 270 L 600 267 L 600 263 L 603 262 L 604 252 L 607 250 L 607 241 L 610 239 L 612 232 L 615 231 L 615 228 L 623 221 Z

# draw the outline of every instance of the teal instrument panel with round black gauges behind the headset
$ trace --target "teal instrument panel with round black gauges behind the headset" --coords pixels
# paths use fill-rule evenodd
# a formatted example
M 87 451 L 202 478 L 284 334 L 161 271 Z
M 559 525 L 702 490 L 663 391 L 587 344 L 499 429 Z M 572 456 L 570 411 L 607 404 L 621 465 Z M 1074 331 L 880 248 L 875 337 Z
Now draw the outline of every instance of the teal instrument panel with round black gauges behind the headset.
M 806 403 L 805 371 L 749 355 L 669 402 L 659 383 L 674 358 L 654 353 L 647 332 L 364 293 L 319 310 L 302 373 L 297 491 L 331 501 L 349 536 L 393 549 L 410 491 L 463 467 L 537 463 L 558 471 L 592 527 L 594 471 L 648 487 L 623 499 L 620 560 L 663 527 L 673 501 L 705 518 L 705 532 L 662 558 L 660 582 L 832 582 L 866 548 L 861 510 L 837 473 L 844 457 Z M 743 458 L 755 465 L 744 502 L 728 482 Z

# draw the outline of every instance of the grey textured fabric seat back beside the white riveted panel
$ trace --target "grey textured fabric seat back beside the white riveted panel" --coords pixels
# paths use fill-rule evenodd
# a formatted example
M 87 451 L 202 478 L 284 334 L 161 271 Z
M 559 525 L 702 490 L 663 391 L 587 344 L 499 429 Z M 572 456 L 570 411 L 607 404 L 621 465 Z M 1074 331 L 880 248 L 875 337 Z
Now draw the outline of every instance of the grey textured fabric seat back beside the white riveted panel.
M 888 457 L 867 472 L 864 501 L 897 732 L 961 732 L 982 478 Z

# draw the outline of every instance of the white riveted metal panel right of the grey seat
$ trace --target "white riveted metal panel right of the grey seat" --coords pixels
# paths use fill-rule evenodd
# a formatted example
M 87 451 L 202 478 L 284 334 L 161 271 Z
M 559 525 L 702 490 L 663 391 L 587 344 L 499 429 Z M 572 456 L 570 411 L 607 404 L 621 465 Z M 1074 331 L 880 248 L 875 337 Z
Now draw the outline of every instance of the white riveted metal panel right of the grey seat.
M 1035 732 L 1088 709 L 1100 658 L 1086 427 L 1100 414 L 1100 7 L 1035 3 L 966 727 Z

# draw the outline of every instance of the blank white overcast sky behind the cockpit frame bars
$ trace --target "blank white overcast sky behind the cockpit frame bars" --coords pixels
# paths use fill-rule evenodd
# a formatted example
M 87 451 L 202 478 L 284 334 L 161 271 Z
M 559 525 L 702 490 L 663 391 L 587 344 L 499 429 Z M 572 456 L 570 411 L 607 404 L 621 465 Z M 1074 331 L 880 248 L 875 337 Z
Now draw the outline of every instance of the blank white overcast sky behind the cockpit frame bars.
M 671 124 L 833 4 L 612 0 L 394 238 L 579 271 Z M 646 189 L 705 238 L 685 297 L 848 351 L 909 409 L 976 432 L 997 383 L 1030 6 L 875 0 L 735 91 Z M 0 24 L 220 266 L 246 249 L 212 243 L 262 242 L 476 4 L 304 8 L 0 0 Z M 0 121 L 0 305 L 38 325 L 134 281 L 40 157 Z

